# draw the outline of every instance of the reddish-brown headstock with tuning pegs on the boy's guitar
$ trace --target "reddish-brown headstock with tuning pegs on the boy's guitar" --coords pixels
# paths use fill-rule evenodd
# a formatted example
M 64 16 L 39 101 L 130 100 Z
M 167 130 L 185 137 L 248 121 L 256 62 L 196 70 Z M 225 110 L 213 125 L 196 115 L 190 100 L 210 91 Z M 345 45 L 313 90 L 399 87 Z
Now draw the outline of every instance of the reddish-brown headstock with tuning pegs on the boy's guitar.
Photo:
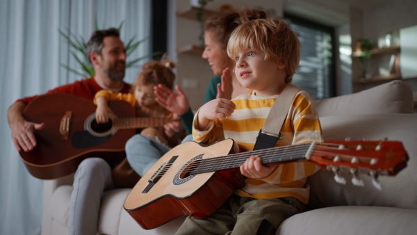
M 400 141 L 338 140 L 317 144 L 310 161 L 334 172 L 334 179 L 345 184 L 341 172 L 352 175 L 352 184 L 363 186 L 359 175 L 370 175 L 373 184 L 381 189 L 379 175 L 396 175 L 407 166 L 407 152 Z

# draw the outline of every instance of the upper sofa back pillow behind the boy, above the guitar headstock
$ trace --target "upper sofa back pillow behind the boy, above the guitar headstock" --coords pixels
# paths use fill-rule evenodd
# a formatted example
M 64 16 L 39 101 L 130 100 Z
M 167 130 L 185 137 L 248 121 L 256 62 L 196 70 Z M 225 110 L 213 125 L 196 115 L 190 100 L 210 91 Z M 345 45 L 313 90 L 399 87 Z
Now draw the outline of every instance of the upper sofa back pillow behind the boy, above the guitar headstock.
M 320 117 L 365 113 L 413 113 L 411 86 L 399 80 L 350 95 L 316 100 Z

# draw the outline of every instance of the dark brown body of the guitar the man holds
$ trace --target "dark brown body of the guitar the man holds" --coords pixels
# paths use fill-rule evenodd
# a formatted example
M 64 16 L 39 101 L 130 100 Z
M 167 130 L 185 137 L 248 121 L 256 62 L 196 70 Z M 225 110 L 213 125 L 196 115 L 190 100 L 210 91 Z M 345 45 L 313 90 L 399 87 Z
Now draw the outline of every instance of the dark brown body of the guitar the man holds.
M 127 102 L 112 101 L 109 106 L 119 117 L 135 117 L 133 107 Z M 94 128 L 90 132 L 88 129 L 97 126 L 91 121 L 95 110 L 92 100 L 65 93 L 42 95 L 26 106 L 26 120 L 45 123 L 44 129 L 35 131 L 37 146 L 30 152 L 19 152 L 31 175 L 39 179 L 65 177 L 91 156 L 101 157 L 111 166 L 122 161 L 126 156 L 124 145 L 136 133 L 135 129 L 110 128 L 92 134 Z M 70 117 L 63 118 L 68 111 Z M 61 132 L 63 127 L 67 127 L 66 133 Z

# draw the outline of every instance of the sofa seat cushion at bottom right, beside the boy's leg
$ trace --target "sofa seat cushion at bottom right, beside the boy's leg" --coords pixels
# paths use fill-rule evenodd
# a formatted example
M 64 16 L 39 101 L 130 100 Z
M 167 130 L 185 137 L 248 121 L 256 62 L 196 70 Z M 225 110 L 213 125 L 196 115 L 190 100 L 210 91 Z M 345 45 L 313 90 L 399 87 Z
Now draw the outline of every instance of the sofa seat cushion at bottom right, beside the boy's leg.
M 381 206 L 334 206 L 297 214 L 277 234 L 416 234 L 417 210 Z

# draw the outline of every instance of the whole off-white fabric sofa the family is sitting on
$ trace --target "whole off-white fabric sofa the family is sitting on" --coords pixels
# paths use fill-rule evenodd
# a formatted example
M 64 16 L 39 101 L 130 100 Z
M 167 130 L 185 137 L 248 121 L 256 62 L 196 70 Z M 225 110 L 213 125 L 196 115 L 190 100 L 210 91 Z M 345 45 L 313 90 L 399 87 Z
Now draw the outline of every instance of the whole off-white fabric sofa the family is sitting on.
M 401 140 L 408 166 L 395 177 L 379 177 L 382 191 L 361 177 L 365 186 L 334 181 L 326 170 L 309 177 L 309 211 L 285 220 L 277 234 L 415 234 L 417 231 L 417 114 L 411 88 L 391 81 L 351 95 L 316 102 L 325 141 L 368 138 Z M 44 182 L 42 234 L 67 234 L 72 177 Z M 174 234 L 185 216 L 156 229 L 145 230 L 124 211 L 130 188 L 104 194 L 99 234 Z

